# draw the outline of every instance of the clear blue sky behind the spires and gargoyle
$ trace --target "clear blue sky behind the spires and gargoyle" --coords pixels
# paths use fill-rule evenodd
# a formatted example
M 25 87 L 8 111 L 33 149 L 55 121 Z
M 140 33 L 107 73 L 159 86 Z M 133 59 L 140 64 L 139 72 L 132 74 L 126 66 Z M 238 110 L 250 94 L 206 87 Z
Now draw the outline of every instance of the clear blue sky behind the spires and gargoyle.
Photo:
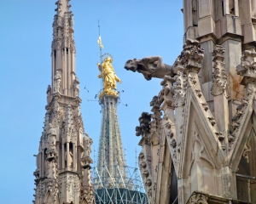
M 56 0 L 1 0 L 0 7 L 0 203 L 32 203 L 33 172 L 44 126 L 46 88 L 50 83 L 50 46 Z M 150 111 L 160 79 L 124 69 L 127 59 L 160 55 L 172 65 L 183 46 L 182 0 L 72 0 L 75 20 L 76 69 L 85 132 L 98 149 L 102 115 L 94 100 L 101 89 L 98 20 L 103 53 L 113 55 L 121 104 L 119 125 L 126 159 L 135 166 L 138 117 Z M 89 93 L 84 87 L 88 88 Z M 127 104 L 128 106 L 122 105 Z M 138 153 L 137 153 L 138 154 Z M 94 158 L 92 152 L 92 158 Z

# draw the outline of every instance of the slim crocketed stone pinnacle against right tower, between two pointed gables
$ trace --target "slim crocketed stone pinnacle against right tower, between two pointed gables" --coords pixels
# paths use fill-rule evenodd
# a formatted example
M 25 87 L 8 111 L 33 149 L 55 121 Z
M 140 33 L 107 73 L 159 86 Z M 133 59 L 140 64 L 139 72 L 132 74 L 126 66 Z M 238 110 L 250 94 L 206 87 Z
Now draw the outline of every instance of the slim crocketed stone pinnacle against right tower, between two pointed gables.
M 221 45 L 216 45 L 212 52 L 213 58 L 213 72 L 212 72 L 212 88 L 211 93 L 214 96 L 225 94 L 228 97 L 227 88 L 227 71 L 224 68 L 224 54 L 225 50 Z

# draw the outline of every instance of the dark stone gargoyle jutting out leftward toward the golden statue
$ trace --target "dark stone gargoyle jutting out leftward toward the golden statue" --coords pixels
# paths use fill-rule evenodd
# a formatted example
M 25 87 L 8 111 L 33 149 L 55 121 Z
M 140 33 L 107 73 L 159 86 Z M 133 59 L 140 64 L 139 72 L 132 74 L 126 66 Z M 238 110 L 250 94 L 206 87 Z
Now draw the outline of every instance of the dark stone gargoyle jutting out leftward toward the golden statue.
M 125 69 L 127 71 L 130 70 L 142 73 L 147 80 L 151 80 L 152 77 L 173 77 L 177 73 L 177 68 L 162 63 L 162 58 L 160 56 L 146 57 L 143 59 L 129 59 L 125 63 Z

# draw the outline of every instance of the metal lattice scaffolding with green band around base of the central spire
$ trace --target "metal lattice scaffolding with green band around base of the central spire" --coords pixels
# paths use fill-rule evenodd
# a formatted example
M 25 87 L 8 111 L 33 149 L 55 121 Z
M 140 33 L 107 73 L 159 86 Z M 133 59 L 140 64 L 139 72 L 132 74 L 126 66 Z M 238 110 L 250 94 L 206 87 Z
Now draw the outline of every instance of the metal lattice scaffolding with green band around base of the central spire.
M 92 183 L 97 204 L 148 204 L 142 178 L 135 167 L 93 167 Z

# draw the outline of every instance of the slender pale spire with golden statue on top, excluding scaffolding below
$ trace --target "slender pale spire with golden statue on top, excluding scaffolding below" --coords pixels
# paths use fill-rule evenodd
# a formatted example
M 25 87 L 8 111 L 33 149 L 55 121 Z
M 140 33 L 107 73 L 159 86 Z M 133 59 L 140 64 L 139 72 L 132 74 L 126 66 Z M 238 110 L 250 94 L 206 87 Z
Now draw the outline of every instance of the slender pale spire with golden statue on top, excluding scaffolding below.
M 119 92 L 116 89 L 116 82 L 121 82 L 116 76 L 113 59 L 107 57 L 102 65 L 98 64 L 101 74 L 98 77 L 103 79 L 103 90 L 100 94 L 100 104 L 102 105 L 102 131 L 100 136 L 98 169 L 109 167 L 109 173 L 113 174 L 113 165 L 125 165 L 125 156 L 119 131 L 117 115 L 117 103 Z M 112 175 L 113 176 L 113 175 Z

